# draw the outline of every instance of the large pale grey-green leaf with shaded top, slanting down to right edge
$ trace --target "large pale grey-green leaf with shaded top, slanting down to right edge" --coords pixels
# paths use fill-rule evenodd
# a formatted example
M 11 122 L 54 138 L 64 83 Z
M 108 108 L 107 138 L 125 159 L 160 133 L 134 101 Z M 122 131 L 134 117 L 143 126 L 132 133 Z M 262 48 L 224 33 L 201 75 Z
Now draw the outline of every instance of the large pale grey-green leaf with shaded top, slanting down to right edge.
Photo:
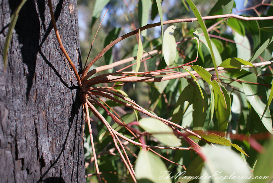
M 264 86 L 264 82 L 260 77 L 256 77 L 254 73 L 244 74 L 242 77 L 238 78 L 241 81 L 248 81 L 252 83 L 259 83 L 261 85 L 245 83 L 242 82 L 244 94 L 246 95 L 249 103 L 253 107 L 253 109 L 257 112 L 259 117 L 261 118 L 264 113 L 264 109 L 266 107 L 267 95 Z M 273 134 L 272 121 L 270 116 L 270 111 L 267 108 L 263 118 L 261 119 L 265 128 L 269 131 L 269 133 Z

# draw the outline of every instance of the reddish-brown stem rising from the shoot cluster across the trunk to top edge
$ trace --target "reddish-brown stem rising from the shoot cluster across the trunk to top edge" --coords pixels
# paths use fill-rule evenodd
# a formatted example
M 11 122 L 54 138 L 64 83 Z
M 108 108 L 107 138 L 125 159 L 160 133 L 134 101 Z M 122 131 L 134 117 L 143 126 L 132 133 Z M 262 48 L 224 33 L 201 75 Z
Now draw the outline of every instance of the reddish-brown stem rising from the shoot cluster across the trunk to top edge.
M 50 15 L 51 15 L 51 19 L 52 19 L 52 24 L 53 24 L 53 27 L 54 27 L 54 31 L 56 33 L 56 37 L 57 37 L 57 40 L 59 42 L 59 47 L 61 48 L 62 52 L 66 56 L 66 59 L 68 60 L 69 64 L 71 65 L 71 67 L 72 67 L 72 69 L 73 69 L 73 71 L 74 71 L 74 73 L 76 75 L 78 86 L 82 88 L 81 79 L 80 79 L 79 74 L 78 74 L 78 72 L 76 70 L 75 64 L 71 61 L 70 57 L 68 56 L 68 54 L 66 52 L 66 49 L 62 45 L 62 40 L 61 40 L 59 31 L 57 29 L 55 18 L 54 18 L 54 13 L 53 13 L 53 10 L 52 10 L 51 0 L 48 1 L 48 5 L 49 5 L 49 9 L 50 9 Z

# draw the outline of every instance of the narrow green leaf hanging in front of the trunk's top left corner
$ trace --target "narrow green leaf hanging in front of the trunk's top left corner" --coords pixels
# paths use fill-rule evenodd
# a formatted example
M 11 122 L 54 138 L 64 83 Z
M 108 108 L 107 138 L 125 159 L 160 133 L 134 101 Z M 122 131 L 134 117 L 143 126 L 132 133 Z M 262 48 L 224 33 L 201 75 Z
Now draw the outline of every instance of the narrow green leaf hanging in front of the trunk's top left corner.
M 10 17 L 10 23 L 9 23 L 9 27 L 8 27 L 8 33 L 6 36 L 6 42 L 5 42 L 4 53 L 3 53 L 3 61 L 4 61 L 5 69 L 7 68 L 8 49 L 9 49 L 10 41 L 12 38 L 13 29 L 16 25 L 16 22 L 17 22 L 17 19 L 19 16 L 19 12 L 26 1 L 27 0 L 22 0 L 20 5 L 15 9 L 15 11 L 12 13 L 12 16 Z

